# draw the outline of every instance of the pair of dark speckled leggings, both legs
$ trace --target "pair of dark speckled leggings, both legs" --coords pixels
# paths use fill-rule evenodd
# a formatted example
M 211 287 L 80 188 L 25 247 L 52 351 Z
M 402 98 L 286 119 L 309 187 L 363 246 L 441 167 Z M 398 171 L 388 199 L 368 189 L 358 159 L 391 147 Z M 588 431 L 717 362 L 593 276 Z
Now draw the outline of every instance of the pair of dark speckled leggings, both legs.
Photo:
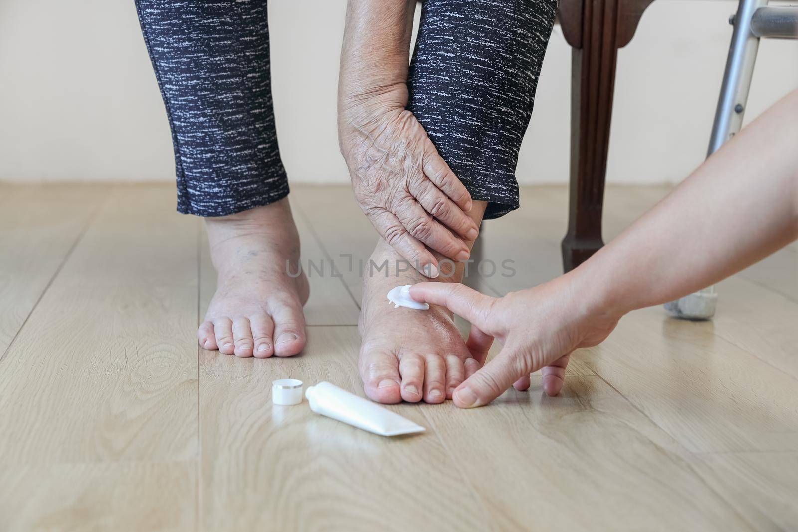
M 519 206 L 518 150 L 556 3 L 422 8 L 408 108 L 472 198 L 488 201 L 486 219 Z M 286 197 L 266 0 L 136 0 L 136 9 L 172 128 L 177 210 L 225 216 Z

